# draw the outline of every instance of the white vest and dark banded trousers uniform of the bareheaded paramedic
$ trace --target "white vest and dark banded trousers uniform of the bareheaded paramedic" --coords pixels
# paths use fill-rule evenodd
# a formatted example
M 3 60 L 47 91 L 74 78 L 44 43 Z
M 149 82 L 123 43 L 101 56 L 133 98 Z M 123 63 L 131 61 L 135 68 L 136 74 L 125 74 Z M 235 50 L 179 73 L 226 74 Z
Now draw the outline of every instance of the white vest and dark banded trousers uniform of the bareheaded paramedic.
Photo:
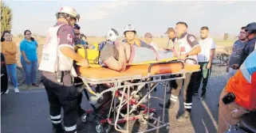
M 191 51 L 195 47 L 200 47 L 199 42 L 196 40 L 195 36 L 184 32 L 179 38 L 175 39 L 174 49 L 179 55 L 186 54 Z M 186 63 L 197 64 L 197 55 L 190 55 L 187 58 L 195 59 L 194 60 L 187 59 Z M 195 74 L 196 73 L 187 73 L 185 79 L 176 79 L 170 82 L 171 85 L 171 98 L 165 105 L 160 104 L 163 108 L 173 108 L 175 102 L 178 100 L 179 91 L 183 86 L 183 100 L 184 100 L 184 110 L 185 112 L 180 118 L 189 118 L 190 112 L 192 108 L 192 97 L 193 97 L 193 89 L 195 86 Z M 179 75 L 180 76 L 180 75 Z M 177 77 L 179 77 L 177 76 Z M 180 119 L 182 120 L 182 119 Z

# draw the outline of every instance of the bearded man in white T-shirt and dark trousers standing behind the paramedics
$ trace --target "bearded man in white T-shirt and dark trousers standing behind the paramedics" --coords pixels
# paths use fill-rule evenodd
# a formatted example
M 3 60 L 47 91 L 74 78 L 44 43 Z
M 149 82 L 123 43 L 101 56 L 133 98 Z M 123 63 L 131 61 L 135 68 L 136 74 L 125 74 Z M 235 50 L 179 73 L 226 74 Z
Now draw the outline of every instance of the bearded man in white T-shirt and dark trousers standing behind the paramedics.
M 199 87 L 203 78 L 202 93 L 199 97 L 200 99 L 203 99 L 207 93 L 207 82 L 211 74 L 211 63 L 215 57 L 216 46 L 215 41 L 209 36 L 209 28 L 207 28 L 207 26 L 201 28 L 200 37 L 201 40 L 199 40 L 199 44 L 201 52 L 198 55 L 198 62 L 201 70 L 196 76 L 194 94 L 197 95 L 199 93 Z

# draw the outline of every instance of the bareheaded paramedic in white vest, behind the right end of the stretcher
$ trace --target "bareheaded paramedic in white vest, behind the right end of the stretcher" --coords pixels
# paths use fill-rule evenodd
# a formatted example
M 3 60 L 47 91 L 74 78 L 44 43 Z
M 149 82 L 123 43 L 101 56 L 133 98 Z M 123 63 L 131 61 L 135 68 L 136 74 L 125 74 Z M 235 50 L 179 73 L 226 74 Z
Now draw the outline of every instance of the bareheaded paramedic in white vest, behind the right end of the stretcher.
M 176 24 L 175 33 L 177 38 L 175 39 L 175 44 L 178 47 L 175 51 L 179 53 L 179 59 L 183 60 L 186 58 L 191 58 L 197 60 L 197 54 L 201 51 L 199 42 L 196 40 L 195 36 L 187 33 L 187 24 L 185 22 L 178 22 Z M 175 46 L 174 46 L 175 47 Z M 187 60 L 186 63 L 195 62 L 193 60 Z M 171 82 L 171 98 L 165 105 L 160 104 L 164 108 L 172 108 L 175 105 L 175 101 L 178 100 L 179 90 L 183 85 L 183 99 L 185 111 L 183 115 L 178 118 L 178 121 L 183 121 L 190 119 L 191 108 L 192 108 L 192 95 L 195 83 L 195 73 L 186 74 L 185 79 L 176 79 Z

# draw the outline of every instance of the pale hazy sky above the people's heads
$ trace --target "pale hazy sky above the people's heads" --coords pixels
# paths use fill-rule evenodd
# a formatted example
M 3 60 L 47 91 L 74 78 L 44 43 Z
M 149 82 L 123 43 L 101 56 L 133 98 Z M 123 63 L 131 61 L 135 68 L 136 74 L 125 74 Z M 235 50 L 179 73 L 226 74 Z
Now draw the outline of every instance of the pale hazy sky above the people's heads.
M 56 24 L 55 13 L 61 6 L 73 6 L 81 14 L 81 32 L 87 36 L 104 36 L 110 28 L 120 34 L 124 26 L 134 25 L 137 34 L 152 32 L 163 36 L 168 27 L 185 21 L 188 31 L 199 34 L 202 26 L 208 26 L 212 36 L 223 36 L 224 32 L 238 35 L 242 26 L 256 21 L 256 1 L 11 1 L 13 9 L 14 35 L 30 29 L 32 33 L 45 35 L 49 26 Z

